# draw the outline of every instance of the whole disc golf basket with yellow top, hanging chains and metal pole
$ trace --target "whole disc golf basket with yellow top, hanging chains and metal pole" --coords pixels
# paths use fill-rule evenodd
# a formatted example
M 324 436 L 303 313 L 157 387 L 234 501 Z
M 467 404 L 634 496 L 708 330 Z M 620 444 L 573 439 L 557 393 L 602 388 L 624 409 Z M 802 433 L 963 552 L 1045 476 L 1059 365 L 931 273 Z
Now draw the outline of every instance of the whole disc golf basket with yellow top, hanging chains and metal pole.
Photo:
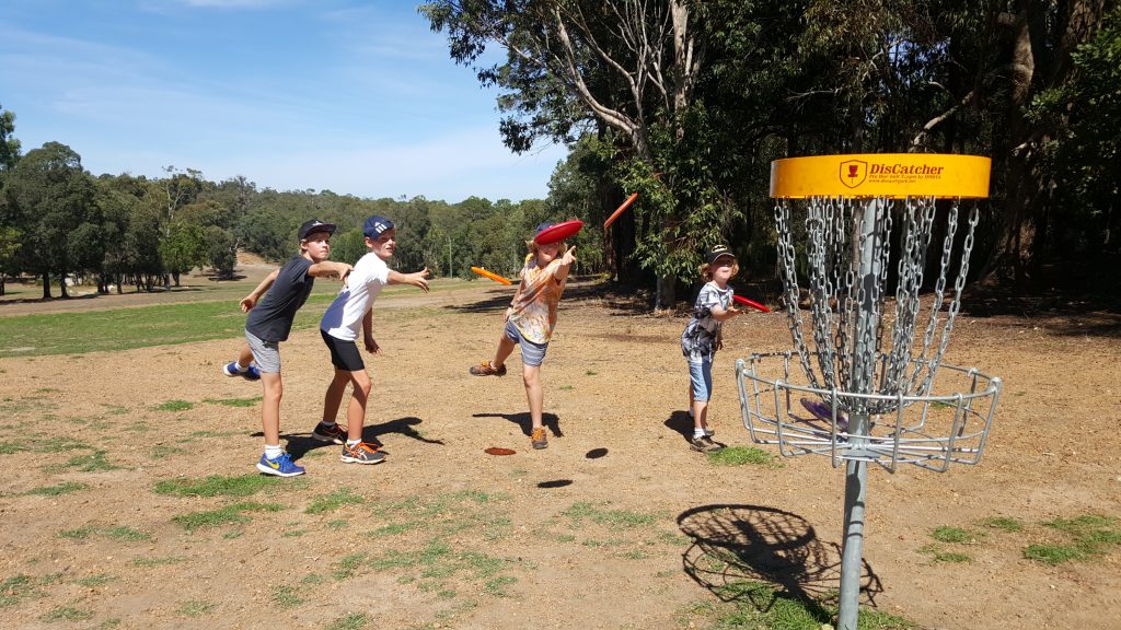
M 771 163 L 794 348 L 736 361 L 740 409 L 757 444 L 845 465 L 839 630 L 856 629 L 868 465 L 944 472 L 984 451 L 1001 381 L 942 359 L 989 169 L 924 154 Z

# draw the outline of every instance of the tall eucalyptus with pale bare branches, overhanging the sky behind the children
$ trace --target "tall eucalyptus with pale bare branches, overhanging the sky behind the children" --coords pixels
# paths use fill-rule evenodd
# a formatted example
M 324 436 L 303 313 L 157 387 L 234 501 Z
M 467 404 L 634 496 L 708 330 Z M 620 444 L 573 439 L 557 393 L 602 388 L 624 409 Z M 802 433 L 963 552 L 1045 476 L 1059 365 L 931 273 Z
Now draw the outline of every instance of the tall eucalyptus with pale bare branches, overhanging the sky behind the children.
M 711 187 L 675 189 L 674 151 L 687 118 L 703 46 L 687 0 L 441 0 L 420 11 L 447 33 L 452 57 L 481 63 L 488 45 L 504 63 L 476 67 L 480 81 L 507 90 L 499 106 L 506 145 L 574 141 L 597 129 L 626 148 L 617 177 L 646 189 L 649 220 L 639 231 L 640 265 L 658 276 L 657 307 L 673 304 L 675 279 L 696 261 L 695 242 L 711 239 L 682 224 L 713 203 Z M 654 174 L 661 172 L 660 180 Z M 648 188 L 648 189 L 647 189 Z M 678 194 L 688 193 L 688 194 Z M 693 225 L 694 230 L 714 228 Z

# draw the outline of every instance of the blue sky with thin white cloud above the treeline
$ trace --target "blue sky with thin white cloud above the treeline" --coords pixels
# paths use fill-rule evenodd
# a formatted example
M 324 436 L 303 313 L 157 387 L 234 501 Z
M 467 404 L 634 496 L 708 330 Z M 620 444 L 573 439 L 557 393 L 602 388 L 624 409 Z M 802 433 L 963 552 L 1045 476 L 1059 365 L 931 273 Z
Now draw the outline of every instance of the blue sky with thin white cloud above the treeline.
M 94 175 L 259 188 L 544 198 L 563 146 L 502 146 L 497 92 L 414 0 L 3 0 L 0 106 L 24 152 Z

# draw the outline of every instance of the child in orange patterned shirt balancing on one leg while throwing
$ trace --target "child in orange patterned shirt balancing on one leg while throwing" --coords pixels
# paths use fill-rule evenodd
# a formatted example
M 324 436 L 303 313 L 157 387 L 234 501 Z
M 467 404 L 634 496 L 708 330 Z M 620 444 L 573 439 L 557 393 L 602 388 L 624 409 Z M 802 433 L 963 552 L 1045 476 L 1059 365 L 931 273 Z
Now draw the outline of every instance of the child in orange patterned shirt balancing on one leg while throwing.
M 537 226 L 537 234 L 553 225 L 552 222 L 541 223 Z M 506 327 L 499 337 L 494 359 L 472 365 L 470 371 L 476 377 L 504 376 L 506 359 L 513 352 L 515 344 L 521 346 L 521 377 L 532 421 L 530 445 L 545 448 L 549 443 L 541 424 L 545 395 L 540 368 L 557 323 L 557 305 L 560 304 L 568 269 L 576 260 L 576 248 L 565 248 L 563 242 L 538 243 L 536 240 L 527 241 L 526 245 L 529 254 L 519 275 L 521 282 L 518 290 L 502 317 Z

